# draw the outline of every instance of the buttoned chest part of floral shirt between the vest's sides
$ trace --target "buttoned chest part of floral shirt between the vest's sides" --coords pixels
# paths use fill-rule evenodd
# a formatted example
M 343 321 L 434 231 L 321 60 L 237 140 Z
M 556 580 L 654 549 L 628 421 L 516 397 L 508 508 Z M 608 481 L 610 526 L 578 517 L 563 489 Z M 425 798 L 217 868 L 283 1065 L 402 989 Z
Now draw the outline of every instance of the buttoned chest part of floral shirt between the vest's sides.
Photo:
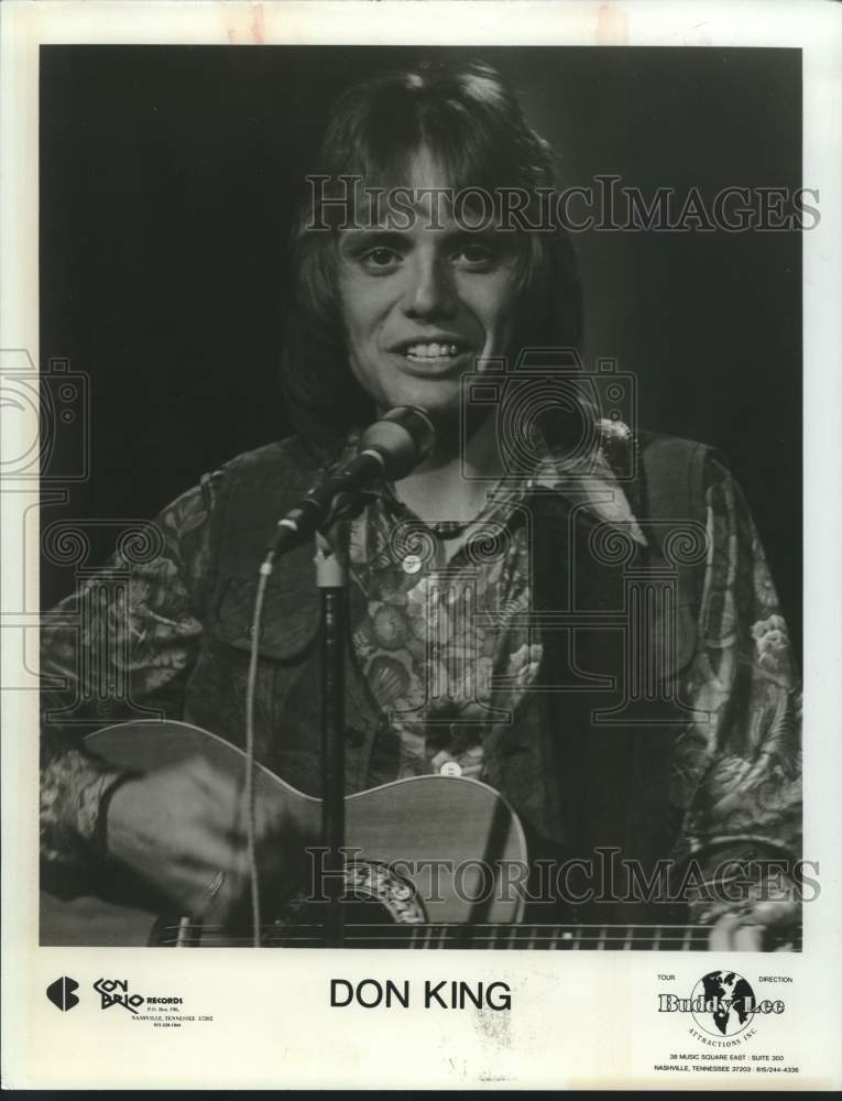
M 527 489 L 492 492 L 456 553 L 391 494 L 352 531 L 367 602 L 353 648 L 390 720 L 382 737 L 397 741 L 396 752 L 381 746 L 398 762 L 396 778 L 480 778 L 484 739 L 512 721 L 535 679 L 542 646 L 516 625 L 529 610 L 529 547 L 526 528 L 510 524 Z

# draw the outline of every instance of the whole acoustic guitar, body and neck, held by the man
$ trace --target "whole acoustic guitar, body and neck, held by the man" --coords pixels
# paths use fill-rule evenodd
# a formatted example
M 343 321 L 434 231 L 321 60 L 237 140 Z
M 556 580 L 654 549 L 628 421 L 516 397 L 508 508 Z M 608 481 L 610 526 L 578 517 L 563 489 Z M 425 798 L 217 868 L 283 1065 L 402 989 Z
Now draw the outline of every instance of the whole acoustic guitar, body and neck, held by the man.
M 244 780 L 237 746 L 184 722 L 141 720 L 108 727 L 87 748 L 119 768 L 146 772 L 197 756 Z M 320 866 L 321 800 L 304 795 L 261 764 L 259 799 L 314 853 Z M 346 909 L 349 948 L 486 948 L 551 950 L 707 950 L 703 925 L 523 924 L 528 869 L 524 830 L 492 787 L 461 776 L 401 780 L 346 798 Z M 521 889 L 518 890 L 518 884 Z M 296 895 L 262 925 L 265 947 L 322 946 L 324 902 Z M 162 916 L 136 905 L 41 893 L 45 946 L 236 947 L 251 934 L 189 916 Z M 769 945 L 769 947 L 773 947 Z M 797 934 L 787 947 L 799 950 Z

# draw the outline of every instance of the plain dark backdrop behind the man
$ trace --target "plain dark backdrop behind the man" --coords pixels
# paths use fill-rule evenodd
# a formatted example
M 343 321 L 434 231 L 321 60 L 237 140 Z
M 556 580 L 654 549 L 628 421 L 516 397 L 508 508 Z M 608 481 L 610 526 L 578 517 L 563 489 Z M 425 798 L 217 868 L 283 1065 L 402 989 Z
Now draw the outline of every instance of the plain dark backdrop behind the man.
M 511 79 L 564 186 L 616 173 L 647 197 L 696 185 L 710 201 L 730 185 L 801 185 L 795 50 L 42 47 L 42 370 L 61 357 L 89 375 L 92 471 L 44 524 L 150 517 L 286 434 L 277 306 L 295 189 L 349 83 L 438 54 Z M 576 244 L 586 360 L 636 373 L 644 426 L 723 453 L 800 647 L 800 235 Z M 47 472 L 61 479 L 78 446 L 59 432 Z M 114 530 L 90 534 L 105 558 Z M 73 581 L 45 562 L 45 606 Z

